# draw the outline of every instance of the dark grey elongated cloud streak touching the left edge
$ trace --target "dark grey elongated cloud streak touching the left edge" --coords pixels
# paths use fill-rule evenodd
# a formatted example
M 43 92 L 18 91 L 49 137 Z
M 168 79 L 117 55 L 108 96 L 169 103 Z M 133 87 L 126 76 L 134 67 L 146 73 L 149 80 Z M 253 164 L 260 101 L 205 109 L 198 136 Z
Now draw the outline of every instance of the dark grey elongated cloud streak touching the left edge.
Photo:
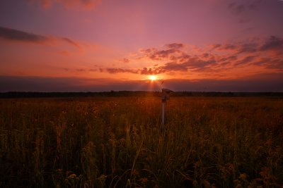
M 1 26 L 0 26 L 0 38 L 11 41 L 33 42 L 33 43 L 43 43 L 48 41 L 48 38 L 42 35 L 35 35 L 30 32 L 13 30 L 11 28 L 1 27 Z

